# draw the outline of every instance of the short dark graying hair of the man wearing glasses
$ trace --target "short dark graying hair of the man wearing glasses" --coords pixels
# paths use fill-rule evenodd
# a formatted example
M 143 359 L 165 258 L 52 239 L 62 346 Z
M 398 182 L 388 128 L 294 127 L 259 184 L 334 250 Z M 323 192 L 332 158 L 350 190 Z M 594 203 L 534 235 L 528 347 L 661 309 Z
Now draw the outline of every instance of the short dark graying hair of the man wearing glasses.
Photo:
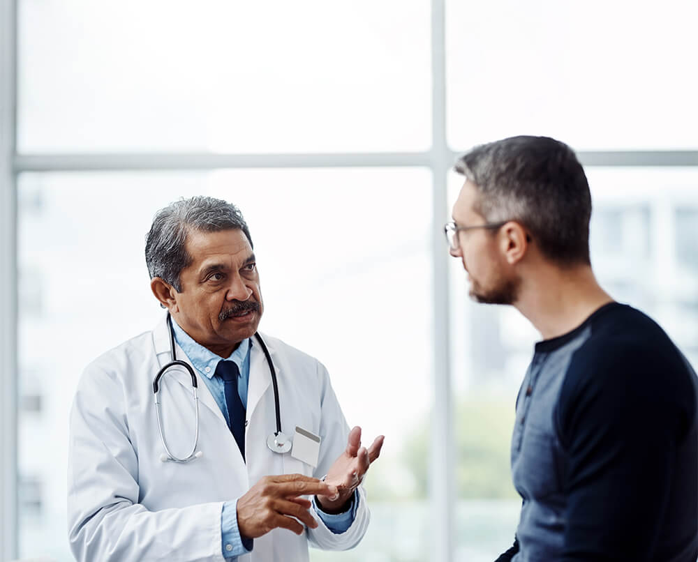
M 567 144 L 510 137 L 476 146 L 455 170 L 475 184 L 475 211 L 487 222 L 521 222 L 541 252 L 560 265 L 591 263 L 591 193 Z

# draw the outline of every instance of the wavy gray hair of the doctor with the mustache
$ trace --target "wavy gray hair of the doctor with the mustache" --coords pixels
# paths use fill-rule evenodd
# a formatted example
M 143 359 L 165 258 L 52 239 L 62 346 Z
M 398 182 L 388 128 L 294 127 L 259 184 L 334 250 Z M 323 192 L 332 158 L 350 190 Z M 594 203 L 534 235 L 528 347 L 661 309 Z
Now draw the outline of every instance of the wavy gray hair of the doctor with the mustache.
M 150 278 L 159 277 L 181 292 L 181 271 L 191 264 L 186 238 L 191 230 L 242 230 L 252 247 L 247 223 L 239 208 L 223 199 L 179 199 L 158 211 L 145 239 L 145 263 Z

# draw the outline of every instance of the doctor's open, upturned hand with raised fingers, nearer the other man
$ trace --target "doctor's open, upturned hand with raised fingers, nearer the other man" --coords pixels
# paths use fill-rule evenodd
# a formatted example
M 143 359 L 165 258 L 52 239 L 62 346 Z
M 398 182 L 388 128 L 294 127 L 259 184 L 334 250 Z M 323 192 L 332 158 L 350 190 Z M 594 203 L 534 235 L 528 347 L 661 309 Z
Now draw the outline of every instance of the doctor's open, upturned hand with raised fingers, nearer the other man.
M 351 499 L 354 490 L 364 480 L 371 463 L 380 455 L 383 439 L 385 436 L 379 435 L 374 439 L 373 444 L 366 449 L 366 447 L 361 446 L 361 427 L 357 425 L 351 430 L 346 450 L 334 461 L 325 477 L 327 484 L 337 487 L 339 496 L 316 494 L 317 501 L 323 511 L 341 513 L 348 509 L 346 503 Z

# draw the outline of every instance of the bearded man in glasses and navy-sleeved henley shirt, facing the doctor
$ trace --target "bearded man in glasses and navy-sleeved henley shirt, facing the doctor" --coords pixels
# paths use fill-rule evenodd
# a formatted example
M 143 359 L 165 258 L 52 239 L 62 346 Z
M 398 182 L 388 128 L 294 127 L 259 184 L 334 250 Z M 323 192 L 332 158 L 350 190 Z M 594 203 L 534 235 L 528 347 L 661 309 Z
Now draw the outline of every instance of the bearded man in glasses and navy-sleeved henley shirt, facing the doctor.
M 662 328 L 616 303 L 589 257 L 591 195 L 565 144 L 477 146 L 445 234 L 470 296 L 540 331 L 516 404 L 514 545 L 498 562 L 698 557 L 697 379 Z

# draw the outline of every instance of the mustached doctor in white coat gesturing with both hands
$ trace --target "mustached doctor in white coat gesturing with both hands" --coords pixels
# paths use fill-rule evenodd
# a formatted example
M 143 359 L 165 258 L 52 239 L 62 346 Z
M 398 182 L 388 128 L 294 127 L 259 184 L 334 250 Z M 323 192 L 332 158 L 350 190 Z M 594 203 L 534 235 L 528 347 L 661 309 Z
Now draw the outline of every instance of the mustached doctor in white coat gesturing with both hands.
M 357 545 L 369 524 L 361 482 L 383 436 L 363 447 L 325 367 L 255 337 L 264 308 L 241 213 L 210 197 L 171 204 L 146 261 L 168 314 L 91 363 L 73 402 L 75 558 L 307 561 L 309 542 Z

